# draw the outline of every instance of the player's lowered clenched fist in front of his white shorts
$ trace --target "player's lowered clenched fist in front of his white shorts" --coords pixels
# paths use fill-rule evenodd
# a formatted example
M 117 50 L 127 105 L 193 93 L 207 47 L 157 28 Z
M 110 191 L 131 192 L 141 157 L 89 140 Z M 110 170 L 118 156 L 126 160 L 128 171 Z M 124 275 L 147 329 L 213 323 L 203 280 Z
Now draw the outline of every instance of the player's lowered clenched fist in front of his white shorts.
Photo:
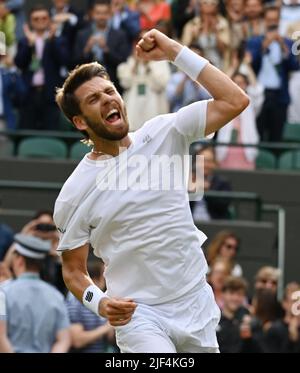
M 137 304 L 132 299 L 102 298 L 99 314 L 105 317 L 110 325 L 122 326 L 129 323 Z

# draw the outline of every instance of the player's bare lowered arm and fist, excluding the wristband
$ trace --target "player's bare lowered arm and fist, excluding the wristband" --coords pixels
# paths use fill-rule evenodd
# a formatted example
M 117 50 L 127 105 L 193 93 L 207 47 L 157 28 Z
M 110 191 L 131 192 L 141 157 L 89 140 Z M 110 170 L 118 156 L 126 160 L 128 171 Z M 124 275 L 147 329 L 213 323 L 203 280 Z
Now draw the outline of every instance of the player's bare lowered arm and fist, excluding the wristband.
M 87 270 L 88 253 L 89 244 L 85 244 L 74 250 L 64 251 L 62 254 L 62 273 L 65 284 L 80 302 L 83 302 L 85 290 L 91 285 L 96 286 Z M 132 299 L 103 296 L 98 305 L 98 314 L 107 318 L 112 326 L 122 326 L 131 320 L 136 306 Z

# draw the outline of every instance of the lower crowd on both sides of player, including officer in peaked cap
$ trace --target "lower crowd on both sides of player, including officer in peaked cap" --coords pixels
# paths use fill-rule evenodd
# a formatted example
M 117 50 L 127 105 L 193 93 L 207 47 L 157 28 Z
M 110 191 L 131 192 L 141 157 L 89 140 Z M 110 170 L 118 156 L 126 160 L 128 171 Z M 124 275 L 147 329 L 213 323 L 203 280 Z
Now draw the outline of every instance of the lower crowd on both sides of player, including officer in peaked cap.
M 113 328 L 63 283 L 51 211 L 38 212 L 16 235 L 0 225 L 0 237 L 0 352 L 119 352 Z M 223 230 L 205 250 L 221 309 L 220 351 L 300 353 L 300 284 L 288 283 L 279 299 L 281 273 L 272 266 L 247 282 L 237 260 L 241 245 L 235 232 Z M 105 291 L 103 263 L 91 255 L 88 271 Z

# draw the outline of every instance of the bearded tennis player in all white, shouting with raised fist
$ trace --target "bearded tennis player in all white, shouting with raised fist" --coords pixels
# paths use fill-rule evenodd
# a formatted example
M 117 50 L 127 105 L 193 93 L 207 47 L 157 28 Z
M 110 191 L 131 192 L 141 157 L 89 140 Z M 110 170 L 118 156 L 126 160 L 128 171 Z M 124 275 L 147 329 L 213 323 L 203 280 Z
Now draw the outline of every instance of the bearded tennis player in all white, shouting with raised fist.
M 165 163 L 184 158 L 192 142 L 229 123 L 249 100 L 207 60 L 157 30 L 143 36 L 136 52 L 144 61 L 172 61 L 213 100 L 128 134 L 123 100 L 105 69 L 91 63 L 71 72 L 57 102 L 94 147 L 55 204 L 64 280 L 115 327 L 122 352 L 218 352 L 220 312 L 201 250 L 206 236 L 193 223 L 186 189 L 164 188 L 174 169 L 170 175 L 149 171 L 160 157 Z M 105 263 L 106 293 L 88 275 L 89 245 Z

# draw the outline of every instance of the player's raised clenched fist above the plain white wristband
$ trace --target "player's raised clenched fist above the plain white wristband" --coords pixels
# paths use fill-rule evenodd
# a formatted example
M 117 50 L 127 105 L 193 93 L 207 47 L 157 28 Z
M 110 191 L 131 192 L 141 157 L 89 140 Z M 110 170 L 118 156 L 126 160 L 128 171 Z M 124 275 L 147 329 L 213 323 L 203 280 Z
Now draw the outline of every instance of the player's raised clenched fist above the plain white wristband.
M 137 57 L 144 61 L 174 61 L 182 45 L 158 30 L 145 33 L 136 45 Z

